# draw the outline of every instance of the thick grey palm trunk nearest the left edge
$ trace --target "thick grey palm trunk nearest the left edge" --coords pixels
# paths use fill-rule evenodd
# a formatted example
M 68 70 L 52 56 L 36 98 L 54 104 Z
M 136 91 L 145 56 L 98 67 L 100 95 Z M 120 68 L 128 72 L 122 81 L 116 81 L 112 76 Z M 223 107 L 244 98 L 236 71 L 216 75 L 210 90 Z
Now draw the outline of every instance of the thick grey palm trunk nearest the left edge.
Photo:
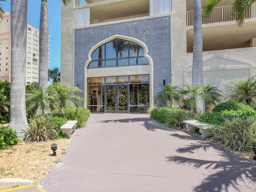
M 26 118 L 27 0 L 11 0 L 10 127 L 24 138 Z

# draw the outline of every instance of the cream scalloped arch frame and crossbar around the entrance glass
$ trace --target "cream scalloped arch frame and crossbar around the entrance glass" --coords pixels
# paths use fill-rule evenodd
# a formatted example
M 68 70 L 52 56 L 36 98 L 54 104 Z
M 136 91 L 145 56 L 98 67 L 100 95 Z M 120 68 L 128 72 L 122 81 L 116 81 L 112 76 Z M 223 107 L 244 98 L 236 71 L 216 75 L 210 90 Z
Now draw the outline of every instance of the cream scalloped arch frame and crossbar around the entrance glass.
M 106 44 L 114 39 L 122 39 L 127 40 L 131 42 L 135 42 L 142 46 L 144 49 L 144 58 L 148 60 L 149 65 L 138 65 L 138 66 L 122 66 L 122 67 L 111 67 L 111 68 L 92 68 L 88 69 L 88 65 L 90 62 L 92 62 L 92 53 L 102 46 L 103 44 Z M 88 86 L 88 78 L 92 77 L 103 77 L 103 76 L 126 76 L 126 75 L 144 75 L 149 74 L 150 76 L 150 82 L 149 82 L 149 92 L 150 92 L 150 107 L 154 105 L 154 88 L 153 88 L 153 61 L 151 57 L 148 55 L 148 48 L 146 44 L 144 44 L 142 41 L 128 37 L 128 36 L 122 36 L 122 35 L 114 35 L 110 38 L 107 38 L 105 40 L 102 40 L 101 42 L 98 42 L 95 46 L 91 48 L 91 50 L 88 53 L 88 60 L 86 61 L 84 65 L 84 108 L 87 108 L 87 86 Z

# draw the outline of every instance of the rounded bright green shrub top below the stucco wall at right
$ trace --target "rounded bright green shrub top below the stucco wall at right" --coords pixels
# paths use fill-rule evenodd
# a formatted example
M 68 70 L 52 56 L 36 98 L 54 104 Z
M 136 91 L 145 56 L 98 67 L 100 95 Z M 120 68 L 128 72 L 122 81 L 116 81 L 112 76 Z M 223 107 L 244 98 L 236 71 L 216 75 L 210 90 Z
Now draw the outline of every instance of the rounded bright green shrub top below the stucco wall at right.
M 242 110 L 242 111 L 255 112 L 252 106 L 245 103 L 238 103 L 238 102 L 224 102 L 224 103 L 218 104 L 212 109 L 212 112 L 221 112 L 224 110 L 234 110 L 234 111 Z

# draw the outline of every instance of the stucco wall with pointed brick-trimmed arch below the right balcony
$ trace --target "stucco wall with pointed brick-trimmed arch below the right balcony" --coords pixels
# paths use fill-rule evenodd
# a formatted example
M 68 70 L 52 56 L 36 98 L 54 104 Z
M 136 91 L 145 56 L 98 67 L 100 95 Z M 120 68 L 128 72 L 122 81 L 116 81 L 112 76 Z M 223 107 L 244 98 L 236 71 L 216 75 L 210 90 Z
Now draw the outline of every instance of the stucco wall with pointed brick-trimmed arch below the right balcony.
M 231 82 L 255 75 L 255 52 L 255 47 L 203 52 L 204 85 L 218 87 L 225 95 Z M 183 85 L 192 84 L 192 57 L 192 53 L 186 54 L 188 65 L 183 67 Z

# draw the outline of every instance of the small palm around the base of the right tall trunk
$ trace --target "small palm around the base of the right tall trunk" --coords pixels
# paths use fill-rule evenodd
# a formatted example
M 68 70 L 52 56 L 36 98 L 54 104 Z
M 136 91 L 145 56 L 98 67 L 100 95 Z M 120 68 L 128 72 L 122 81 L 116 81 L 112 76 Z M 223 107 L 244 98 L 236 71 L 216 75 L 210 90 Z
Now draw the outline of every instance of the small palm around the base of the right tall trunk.
M 180 94 L 185 99 L 186 104 L 192 109 L 195 113 L 198 112 L 196 100 L 206 100 L 208 103 L 216 104 L 220 101 L 219 90 L 216 87 L 204 86 L 200 84 L 195 86 L 186 85 L 186 89 L 180 91 Z M 203 112 L 202 112 L 203 113 Z

